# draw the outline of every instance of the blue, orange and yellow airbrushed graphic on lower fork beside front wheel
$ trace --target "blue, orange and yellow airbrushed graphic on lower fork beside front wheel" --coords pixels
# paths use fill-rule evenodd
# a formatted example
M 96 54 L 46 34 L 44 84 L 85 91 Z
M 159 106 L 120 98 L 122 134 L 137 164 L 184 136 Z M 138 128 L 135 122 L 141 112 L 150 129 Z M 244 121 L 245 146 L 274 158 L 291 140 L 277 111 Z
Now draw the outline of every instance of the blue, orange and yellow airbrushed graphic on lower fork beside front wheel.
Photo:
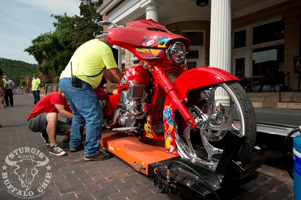
M 166 120 L 166 127 L 165 129 L 165 148 L 170 153 L 176 153 L 175 146 L 172 144 L 173 138 L 171 137 L 170 133 L 174 129 L 174 121 L 172 115 L 172 108 L 170 105 L 165 106 L 164 108 L 164 120 Z

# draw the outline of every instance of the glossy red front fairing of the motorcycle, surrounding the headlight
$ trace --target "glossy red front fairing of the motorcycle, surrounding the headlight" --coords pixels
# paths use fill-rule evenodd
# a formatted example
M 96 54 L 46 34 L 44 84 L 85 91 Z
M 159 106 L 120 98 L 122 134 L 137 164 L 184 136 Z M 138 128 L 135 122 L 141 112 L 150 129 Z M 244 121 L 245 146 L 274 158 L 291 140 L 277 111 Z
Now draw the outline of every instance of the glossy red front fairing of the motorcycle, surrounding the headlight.
M 180 40 L 189 50 L 191 41 L 186 37 L 170 32 L 160 23 L 152 20 L 130 21 L 125 27 L 111 28 L 108 31 L 110 43 L 131 51 L 139 60 L 170 64 L 166 49 L 174 40 Z

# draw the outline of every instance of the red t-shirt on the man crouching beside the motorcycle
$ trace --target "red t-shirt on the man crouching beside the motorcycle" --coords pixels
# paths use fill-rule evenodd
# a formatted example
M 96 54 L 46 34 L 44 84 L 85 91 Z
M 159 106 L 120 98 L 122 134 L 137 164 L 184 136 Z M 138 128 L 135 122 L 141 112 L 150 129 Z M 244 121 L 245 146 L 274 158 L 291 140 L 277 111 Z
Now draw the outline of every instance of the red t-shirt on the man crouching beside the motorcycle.
M 41 100 L 39 100 L 39 102 L 36 104 L 32 112 L 27 117 L 27 120 L 45 112 L 58 113 L 59 111 L 56 109 L 54 104 L 64 105 L 65 109 L 71 112 L 71 109 L 67 104 L 66 100 L 63 98 L 62 94 L 58 92 L 51 92 L 46 96 L 44 96 L 43 98 L 41 98 Z

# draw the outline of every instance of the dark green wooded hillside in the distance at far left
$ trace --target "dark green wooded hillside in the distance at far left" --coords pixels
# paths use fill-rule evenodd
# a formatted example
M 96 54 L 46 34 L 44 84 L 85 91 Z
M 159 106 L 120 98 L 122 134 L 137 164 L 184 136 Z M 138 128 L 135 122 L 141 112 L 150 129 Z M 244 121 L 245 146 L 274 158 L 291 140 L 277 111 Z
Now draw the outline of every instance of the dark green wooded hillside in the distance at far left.
M 8 75 L 16 85 L 20 83 L 20 76 L 32 77 L 33 73 L 39 72 L 38 64 L 30 64 L 21 60 L 12 60 L 0 57 L 0 68 L 4 75 Z

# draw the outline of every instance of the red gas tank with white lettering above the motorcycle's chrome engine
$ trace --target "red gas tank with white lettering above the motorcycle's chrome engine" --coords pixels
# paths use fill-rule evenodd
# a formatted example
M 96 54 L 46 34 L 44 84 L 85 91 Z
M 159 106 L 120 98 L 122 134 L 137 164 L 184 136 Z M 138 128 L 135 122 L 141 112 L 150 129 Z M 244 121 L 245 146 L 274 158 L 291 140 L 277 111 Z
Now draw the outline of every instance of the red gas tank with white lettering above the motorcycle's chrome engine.
M 125 69 L 122 73 L 121 80 L 118 85 L 117 92 L 127 89 L 129 87 L 129 80 L 136 80 L 144 84 L 144 87 L 148 87 L 150 84 L 150 72 L 148 69 L 143 68 L 144 62 L 141 61 L 137 64 L 131 65 Z

